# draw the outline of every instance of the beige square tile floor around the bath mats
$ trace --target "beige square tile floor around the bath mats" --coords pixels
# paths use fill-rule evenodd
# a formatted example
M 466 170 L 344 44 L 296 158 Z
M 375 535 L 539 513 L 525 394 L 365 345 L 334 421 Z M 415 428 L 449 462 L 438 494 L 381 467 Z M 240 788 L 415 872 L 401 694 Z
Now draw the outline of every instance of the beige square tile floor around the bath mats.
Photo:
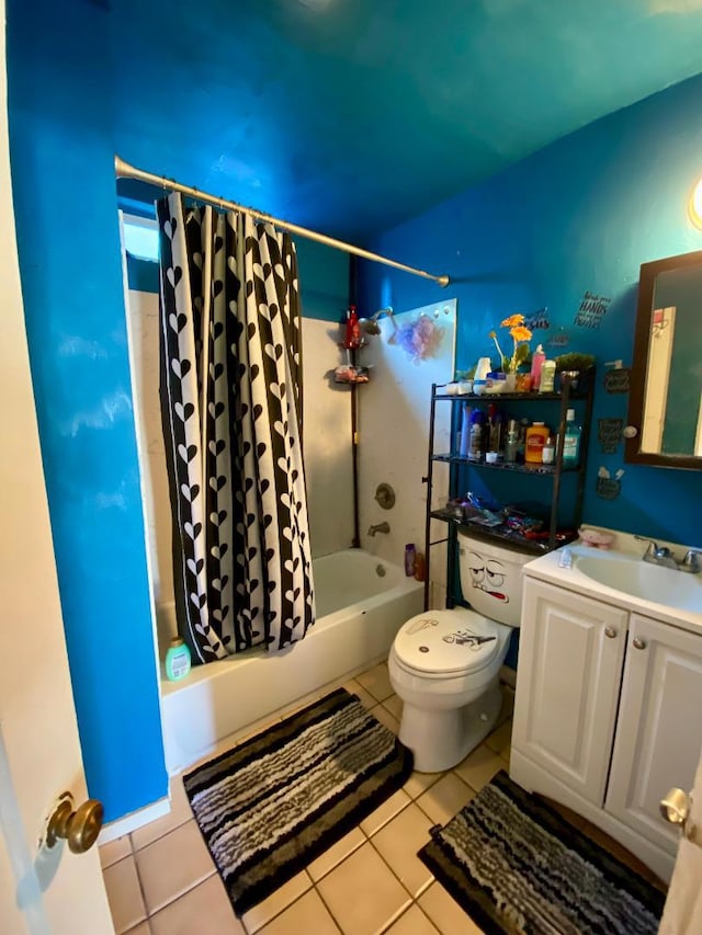
M 397 732 L 401 702 L 393 694 L 384 663 L 343 685 Z M 268 723 L 332 687 L 276 712 Z M 446 822 L 499 769 L 508 768 L 512 707 L 513 692 L 503 686 L 497 728 L 462 763 L 446 773 L 412 774 L 359 826 L 240 920 L 203 843 L 183 784 L 173 778 L 170 814 L 101 848 L 117 935 L 480 933 L 417 858 L 417 851 L 433 824 Z M 264 726 L 254 726 L 246 736 Z M 222 749 L 231 745 L 229 738 Z M 597 832 L 582 819 L 573 820 L 586 833 Z

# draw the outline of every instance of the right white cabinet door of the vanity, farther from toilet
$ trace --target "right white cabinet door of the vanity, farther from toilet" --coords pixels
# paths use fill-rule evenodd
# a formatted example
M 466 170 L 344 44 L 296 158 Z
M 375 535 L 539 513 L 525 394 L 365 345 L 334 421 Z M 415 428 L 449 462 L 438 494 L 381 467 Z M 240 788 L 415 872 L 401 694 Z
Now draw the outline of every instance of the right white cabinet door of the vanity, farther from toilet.
M 702 748 L 702 636 L 631 615 L 605 809 L 671 854 L 658 803 L 692 788 Z

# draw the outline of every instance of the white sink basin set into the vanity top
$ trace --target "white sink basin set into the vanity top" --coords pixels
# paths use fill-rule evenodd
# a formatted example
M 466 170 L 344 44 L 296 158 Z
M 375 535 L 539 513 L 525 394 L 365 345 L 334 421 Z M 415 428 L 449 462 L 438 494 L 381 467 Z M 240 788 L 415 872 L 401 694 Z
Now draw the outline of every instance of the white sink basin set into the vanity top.
M 690 574 L 618 552 L 578 556 L 575 566 L 605 588 L 654 604 L 702 613 L 702 573 Z

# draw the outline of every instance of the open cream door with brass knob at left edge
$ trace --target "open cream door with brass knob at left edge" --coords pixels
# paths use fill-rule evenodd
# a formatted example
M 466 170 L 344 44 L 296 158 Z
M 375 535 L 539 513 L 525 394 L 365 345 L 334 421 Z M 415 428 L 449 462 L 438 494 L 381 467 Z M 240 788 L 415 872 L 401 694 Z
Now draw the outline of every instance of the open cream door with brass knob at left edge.
M 87 798 L 52 547 L 14 239 L 0 0 L 0 928 L 113 932 L 97 847 L 37 848 L 65 790 Z

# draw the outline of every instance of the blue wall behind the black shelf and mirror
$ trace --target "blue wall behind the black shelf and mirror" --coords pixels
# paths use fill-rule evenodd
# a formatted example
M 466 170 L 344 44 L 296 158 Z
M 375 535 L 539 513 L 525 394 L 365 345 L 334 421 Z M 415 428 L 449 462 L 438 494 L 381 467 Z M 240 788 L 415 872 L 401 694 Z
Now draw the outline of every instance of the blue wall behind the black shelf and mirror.
M 595 419 L 625 419 L 629 397 L 602 387 L 604 362 L 632 362 L 639 265 L 702 248 L 702 233 L 686 214 L 702 174 L 701 113 L 699 77 L 598 121 L 378 236 L 371 249 L 448 273 L 452 282 L 443 290 L 362 263 L 360 306 L 389 304 L 405 311 L 456 296 L 461 369 L 494 352 L 488 332 L 505 317 L 546 306 L 552 324 L 570 334 L 564 350 L 597 356 Z M 611 298 L 599 330 L 573 323 L 586 290 Z M 612 476 L 625 471 L 615 501 L 596 493 L 600 466 Z M 584 518 L 702 546 L 702 472 L 625 465 L 623 445 L 604 455 L 595 431 Z

